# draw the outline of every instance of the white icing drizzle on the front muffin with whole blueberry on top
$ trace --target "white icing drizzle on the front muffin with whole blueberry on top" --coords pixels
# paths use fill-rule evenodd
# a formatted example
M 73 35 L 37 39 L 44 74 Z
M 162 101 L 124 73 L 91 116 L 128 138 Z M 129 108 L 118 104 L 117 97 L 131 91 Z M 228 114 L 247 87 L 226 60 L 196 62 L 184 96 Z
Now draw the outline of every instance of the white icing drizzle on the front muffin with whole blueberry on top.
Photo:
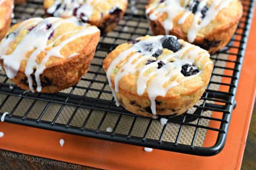
M 174 36 L 172 36 L 174 37 Z M 179 42 L 183 42 L 183 48 L 177 51 L 176 53 L 168 54 L 165 57 L 163 57 L 160 60 L 157 60 L 156 62 L 151 62 L 148 65 L 142 65 L 138 67 L 138 64 L 146 61 L 150 58 L 152 58 L 152 54 L 157 51 L 157 49 L 160 49 L 160 45 L 162 45 L 162 38 L 163 36 L 156 36 L 156 37 L 148 37 L 145 40 L 141 40 L 134 44 L 131 48 L 122 51 L 118 57 L 116 57 L 109 66 L 107 70 L 107 78 L 109 85 L 111 87 L 111 91 L 113 92 L 113 96 L 116 100 L 116 104 L 119 105 L 118 100 L 116 98 L 116 93 L 119 92 L 119 81 L 129 75 L 134 74 L 136 72 L 139 72 L 139 75 L 137 77 L 137 94 L 143 95 L 145 92 L 147 92 L 148 97 L 151 101 L 151 111 L 154 115 L 157 114 L 156 112 L 156 104 L 155 99 L 157 96 L 166 96 L 166 93 L 175 86 L 179 85 L 181 82 L 184 82 L 188 79 L 191 79 L 198 74 L 201 74 L 201 71 L 198 74 L 184 77 L 181 73 L 182 66 L 185 64 L 195 65 L 199 66 L 201 60 L 204 57 L 209 57 L 209 54 L 207 51 L 199 48 L 198 46 L 191 45 L 188 42 L 183 42 L 183 40 L 178 40 Z M 176 37 L 175 37 L 176 38 Z M 151 52 L 148 53 L 147 51 L 143 50 L 143 46 L 145 47 L 145 44 L 151 43 L 154 47 L 151 49 Z M 140 51 L 140 52 L 136 52 Z M 127 57 L 131 54 L 131 52 L 134 52 L 133 55 L 131 55 L 128 59 Z M 143 55 L 141 55 L 143 54 Z M 169 62 L 170 59 L 175 58 L 174 62 Z M 116 71 L 116 65 L 119 63 L 127 60 L 121 68 L 118 69 L 115 77 L 114 77 L 114 87 L 112 87 L 111 82 L 111 74 L 113 74 L 114 71 Z M 197 62 L 195 62 L 197 60 Z M 158 62 L 164 62 L 165 65 L 163 65 L 160 69 L 155 69 L 151 71 L 149 74 L 145 75 L 145 72 L 147 72 L 151 68 L 157 68 Z M 206 62 L 204 67 L 208 64 L 211 64 L 212 62 Z M 204 69 L 204 67 L 202 69 Z M 167 86 L 164 87 L 163 85 L 166 82 L 169 82 L 170 79 L 172 79 L 174 76 L 176 78 Z M 181 78 L 179 82 L 177 82 L 177 79 Z

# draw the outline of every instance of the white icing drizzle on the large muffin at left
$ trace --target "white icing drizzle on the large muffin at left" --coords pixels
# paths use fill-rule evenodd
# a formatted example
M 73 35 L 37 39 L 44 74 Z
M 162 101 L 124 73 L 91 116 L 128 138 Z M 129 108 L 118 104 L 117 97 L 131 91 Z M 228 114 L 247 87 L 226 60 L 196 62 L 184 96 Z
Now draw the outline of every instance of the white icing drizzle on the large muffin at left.
M 29 81 L 29 88 L 32 92 L 34 92 L 33 80 L 32 80 L 31 74 L 33 74 L 35 70 L 35 80 L 37 83 L 37 91 L 40 92 L 42 89 L 40 75 L 44 72 L 46 63 L 49 60 L 49 58 L 52 56 L 64 58 L 64 56 L 60 54 L 60 51 L 65 45 L 76 40 L 79 37 L 85 36 L 87 34 L 93 34 L 99 31 L 99 29 L 96 27 L 88 26 L 87 24 L 82 24 L 82 26 L 84 26 L 83 29 L 66 32 L 60 35 L 59 37 L 55 38 L 55 40 L 52 43 L 47 45 L 49 37 L 54 34 L 55 28 L 60 26 L 62 23 L 73 23 L 76 26 L 80 26 L 79 25 L 80 23 L 78 22 L 78 20 L 74 18 L 75 17 L 69 18 L 67 20 L 63 20 L 57 17 L 49 17 L 46 19 L 35 18 L 35 19 L 30 19 L 21 23 L 20 26 L 15 30 L 14 34 L 9 34 L 8 38 L 4 39 L 0 43 L 0 55 L 1 55 L 1 58 L 3 59 L 4 68 L 7 76 L 10 79 L 14 78 L 17 75 L 17 71 L 20 68 L 20 62 L 22 60 L 27 60 L 25 74 Z M 47 25 L 49 25 L 49 28 L 47 28 Z M 25 37 L 23 37 L 23 39 L 17 45 L 15 50 L 12 52 L 12 54 L 5 55 L 10 43 L 13 40 L 15 40 L 15 37 L 20 32 L 20 30 L 29 28 L 29 26 L 30 28 L 31 26 L 35 26 L 35 27 L 32 28 L 32 30 L 29 31 L 29 33 L 26 34 Z M 73 35 L 67 38 L 66 40 L 64 40 L 63 42 L 61 42 L 59 45 L 55 46 L 54 48 L 51 48 L 49 51 L 45 50 L 46 48 L 51 47 L 57 40 L 60 40 L 61 37 L 63 37 L 66 34 L 73 34 Z M 27 58 L 26 55 L 28 51 L 32 51 L 32 50 L 34 51 Z M 38 64 L 38 62 L 36 62 L 36 59 L 38 54 L 40 54 L 41 52 L 45 52 L 46 56 L 41 61 L 41 63 Z M 71 54 L 71 55 L 74 55 L 74 54 Z

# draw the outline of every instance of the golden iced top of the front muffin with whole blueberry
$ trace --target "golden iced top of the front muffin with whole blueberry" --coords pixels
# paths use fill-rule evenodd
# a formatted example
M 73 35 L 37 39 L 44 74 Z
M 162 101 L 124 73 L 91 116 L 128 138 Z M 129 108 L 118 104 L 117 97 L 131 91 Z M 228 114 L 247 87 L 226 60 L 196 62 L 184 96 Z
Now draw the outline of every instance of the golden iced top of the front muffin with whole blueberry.
M 113 92 L 148 96 L 154 106 L 159 96 L 190 94 L 207 85 L 213 64 L 206 50 L 160 35 L 119 45 L 108 54 L 103 68 Z

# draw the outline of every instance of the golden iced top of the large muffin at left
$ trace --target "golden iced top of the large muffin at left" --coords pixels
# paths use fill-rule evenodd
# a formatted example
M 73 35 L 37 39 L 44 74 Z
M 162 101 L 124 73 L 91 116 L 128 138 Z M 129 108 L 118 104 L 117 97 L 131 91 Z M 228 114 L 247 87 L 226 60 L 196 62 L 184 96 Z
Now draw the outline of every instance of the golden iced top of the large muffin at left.
M 21 71 L 31 78 L 35 74 L 40 89 L 40 75 L 45 68 L 77 56 L 99 29 L 79 22 L 75 17 L 32 18 L 15 24 L 0 42 L 0 59 L 12 79 Z M 29 79 L 31 80 L 31 79 Z M 32 83 L 30 83 L 31 89 Z M 33 91 L 33 90 L 32 90 Z

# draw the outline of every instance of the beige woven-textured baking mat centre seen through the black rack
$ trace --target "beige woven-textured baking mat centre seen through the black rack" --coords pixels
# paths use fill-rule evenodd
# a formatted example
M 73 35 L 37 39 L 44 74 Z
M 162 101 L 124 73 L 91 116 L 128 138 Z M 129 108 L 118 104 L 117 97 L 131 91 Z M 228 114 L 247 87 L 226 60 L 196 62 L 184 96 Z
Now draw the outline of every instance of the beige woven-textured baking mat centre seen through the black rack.
M 146 0 L 141 1 L 130 1 L 130 6 L 127 10 L 127 15 L 120 21 L 119 26 L 105 37 L 101 37 L 100 45 L 105 44 L 104 48 L 107 50 L 101 50 L 99 48 L 96 51 L 95 58 L 92 61 L 92 65 L 90 66 L 89 73 L 85 75 L 83 80 L 76 85 L 74 88 L 71 87 L 61 93 L 64 94 L 72 94 L 79 96 L 86 96 L 91 98 L 99 98 L 105 100 L 112 100 L 113 96 L 109 93 L 102 93 L 100 91 L 110 91 L 108 85 L 104 85 L 106 82 L 106 76 L 102 69 L 102 62 L 108 51 L 111 49 L 113 44 L 118 45 L 123 42 L 127 42 L 128 40 L 135 39 L 137 37 L 141 37 L 146 34 L 151 34 L 151 31 L 148 29 L 148 23 L 145 18 L 132 18 L 131 16 L 143 16 L 144 15 L 144 5 Z M 129 15 L 133 14 L 133 15 Z M 29 1 L 26 5 L 17 6 L 15 8 L 16 18 L 14 22 L 19 22 L 26 18 L 30 17 L 44 17 L 44 9 L 42 8 L 42 0 Z M 101 45 L 102 46 L 102 45 Z M 212 56 L 212 58 L 216 58 Z M 215 62 L 215 65 L 225 67 L 226 62 L 222 62 L 219 59 L 227 59 L 227 55 L 219 54 L 218 61 Z M 213 60 L 214 61 L 214 60 Z M 215 68 L 214 73 L 223 74 L 224 69 Z M 100 73 L 100 74 L 96 74 Z M 90 82 L 91 79 L 95 79 L 96 81 Z M 98 82 L 97 82 L 98 81 Z M 209 86 L 209 90 L 218 91 L 219 85 L 218 82 L 221 83 L 221 76 L 213 76 L 213 82 Z M 12 85 L 12 82 L 6 78 L 6 75 L 3 71 L 0 74 L 0 82 L 10 84 L 9 88 L 12 89 L 15 85 Z M 15 88 L 17 88 L 15 86 Z M 90 89 L 90 90 L 88 90 Z M 197 105 L 201 105 L 203 100 L 200 100 Z M 211 103 L 211 101 L 206 101 L 206 103 Z M 87 120 L 87 123 L 84 128 L 96 130 L 99 123 L 102 121 L 102 118 L 105 116 L 103 120 L 100 131 L 105 132 L 108 127 L 112 129 L 116 125 L 117 120 L 119 119 L 119 115 L 117 113 L 108 112 L 106 115 L 104 111 L 99 111 L 96 109 L 86 109 L 86 108 L 76 108 L 70 105 L 61 105 L 55 102 L 45 102 L 42 100 L 28 99 L 28 98 L 20 98 L 19 96 L 7 96 L 4 94 L 0 94 L 0 112 L 12 112 L 15 116 L 23 117 L 25 113 L 27 113 L 27 118 L 37 120 L 42 112 L 44 112 L 41 117 L 41 121 L 52 122 L 55 119 L 56 114 L 59 116 L 56 119 L 56 123 L 61 125 L 66 125 L 75 113 L 70 125 L 75 127 L 82 127 L 84 121 L 87 120 L 87 116 L 90 117 Z M 17 108 L 16 108 L 17 107 Z M 63 108 L 62 108 L 63 107 Z M 76 112 L 74 112 L 77 110 Z M 29 112 L 27 112 L 29 111 Z M 60 111 L 60 112 L 59 112 Z M 189 109 L 188 113 L 193 113 L 195 108 Z M 212 114 L 211 111 L 204 111 L 203 116 L 210 117 Z M 131 125 L 134 121 L 134 116 L 122 115 L 118 126 L 116 127 L 116 132 L 123 135 L 128 135 Z M 148 126 L 150 119 L 140 118 L 138 117 L 135 121 L 134 128 L 131 132 L 131 136 L 136 136 L 142 138 L 145 130 Z M 197 124 L 198 119 L 191 122 L 192 124 Z M 208 126 L 209 119 L 201 119 L 199 125 Z M 109 129 L 109 128 L 108 128 Z M 160 133 L 163 129 L 163 125 L 161 125 L 160 120 L 153 120 L 151 126 L 149 127 L 146 138 L 147 139 L 159 139 Z M 179 124 L 175 123 L 167 123 L 165 133 L 163 135 L 163 141 L 166 142 L 175 142 L 177 138 L 177 133 L 180 129 Z M 195 127 L 183 125 L 181 135 L 179 138 L 179 144 L 188 144 L 190 145 L 192 142 L 192 138 L 195 133 Z M 207 129 L 198 128 L 198 133 L 195 139 L 195 146 L 202 146 L 204 144 L 204 138 L 206 136 Z

